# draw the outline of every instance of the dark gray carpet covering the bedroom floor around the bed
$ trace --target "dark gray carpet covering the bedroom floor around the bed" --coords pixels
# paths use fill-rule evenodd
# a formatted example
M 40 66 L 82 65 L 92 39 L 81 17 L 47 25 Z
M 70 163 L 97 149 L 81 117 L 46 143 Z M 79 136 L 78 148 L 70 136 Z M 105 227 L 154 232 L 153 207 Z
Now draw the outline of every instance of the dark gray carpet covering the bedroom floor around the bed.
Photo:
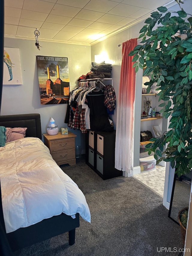
M 137 181 L 117 177 L 101 179 L 81 158 L 76 166 L 62 165 L 85 194 L 91 224 L 80 218 L 76 242 L 68 234 L 16 251 L 15 256 L 162 256 L 182 248 L 179 225 L 168 218 L 162 198 Z

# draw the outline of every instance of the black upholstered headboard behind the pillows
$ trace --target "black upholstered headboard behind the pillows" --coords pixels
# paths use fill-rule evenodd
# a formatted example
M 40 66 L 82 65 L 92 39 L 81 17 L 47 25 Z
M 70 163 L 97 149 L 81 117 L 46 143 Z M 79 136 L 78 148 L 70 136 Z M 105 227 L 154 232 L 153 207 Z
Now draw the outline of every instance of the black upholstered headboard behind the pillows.
M 27 127 L 26 137 L 38 137 L 42 139 L 40 114 L 22 114 L 0 116 L 0 126 Z

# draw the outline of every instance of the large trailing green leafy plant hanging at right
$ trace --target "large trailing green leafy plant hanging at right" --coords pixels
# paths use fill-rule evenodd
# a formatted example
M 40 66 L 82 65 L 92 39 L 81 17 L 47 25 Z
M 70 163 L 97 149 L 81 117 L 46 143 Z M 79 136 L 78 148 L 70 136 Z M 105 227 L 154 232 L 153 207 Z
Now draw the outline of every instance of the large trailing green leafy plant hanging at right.
M 181 8 L 183 2 L 175 1 Z M 159 86 L 163 117 L 171 115 L 170 130 L 152 138 L 146 147 L 149 154 L 155 152 L 157 163 L 171 162 L 181 176 L 192 167 L 192 17 L 183 8 L 176 12 L 161 6 L 145 23 L 140 30 L 141 44 L 129 55 L 136 61 L 135 71 L 145 67 L 143 75 L 150 76 L 145 83 L 147 93 L 154 83 Z

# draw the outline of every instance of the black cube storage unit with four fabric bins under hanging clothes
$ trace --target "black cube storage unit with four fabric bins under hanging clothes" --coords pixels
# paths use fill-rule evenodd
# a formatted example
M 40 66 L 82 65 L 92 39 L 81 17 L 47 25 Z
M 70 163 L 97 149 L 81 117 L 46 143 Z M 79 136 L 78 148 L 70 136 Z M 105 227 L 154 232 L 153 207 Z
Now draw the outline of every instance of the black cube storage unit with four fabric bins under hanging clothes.
M 115 168 L 116 131 L 88 131 L 85 136 L 85 162 L 102 179 L 122 176 Z

